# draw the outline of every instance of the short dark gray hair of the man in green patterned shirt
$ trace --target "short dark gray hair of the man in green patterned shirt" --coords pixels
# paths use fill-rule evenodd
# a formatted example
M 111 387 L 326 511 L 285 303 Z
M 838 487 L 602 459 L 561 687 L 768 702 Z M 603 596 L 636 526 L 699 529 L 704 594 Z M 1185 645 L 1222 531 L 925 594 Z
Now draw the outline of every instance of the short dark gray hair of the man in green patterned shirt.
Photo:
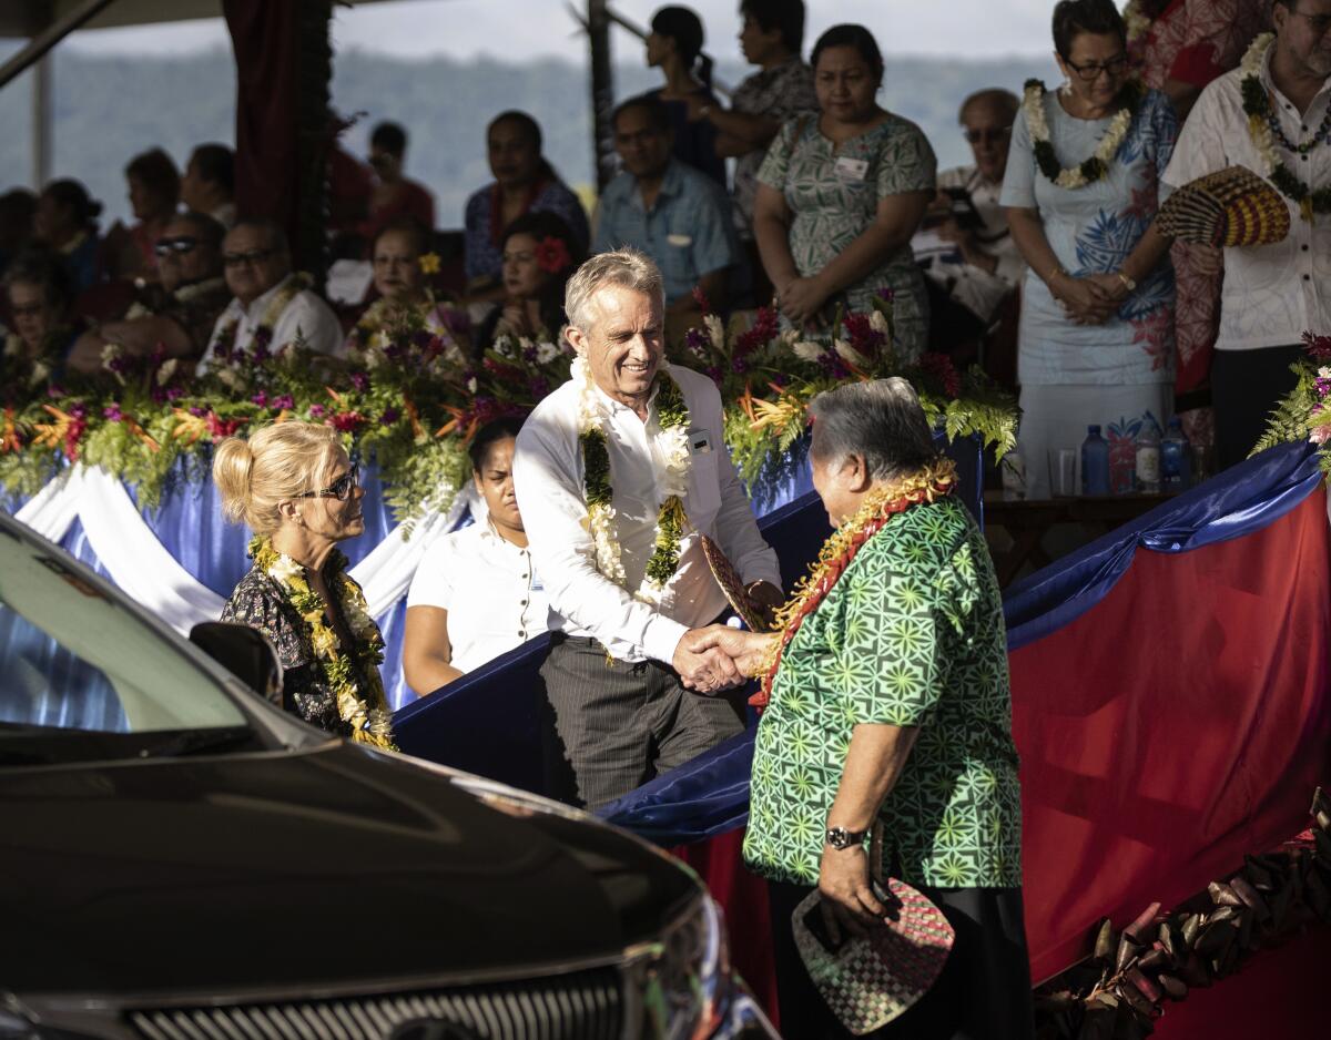
M 833 467 L 852 455 L 890 480 L 934 461 L 938 450 L 914 387 L 901 376 L 847 383 L 809 402 L 813 454 Z

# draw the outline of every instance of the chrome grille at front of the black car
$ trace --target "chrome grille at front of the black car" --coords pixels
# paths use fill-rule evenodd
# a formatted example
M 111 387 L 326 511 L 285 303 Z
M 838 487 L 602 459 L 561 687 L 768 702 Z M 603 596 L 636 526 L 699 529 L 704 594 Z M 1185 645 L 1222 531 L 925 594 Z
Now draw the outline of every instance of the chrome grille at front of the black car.
M 615 1040 L 614 968 L 410 993 L 128 1012 L 145 1040 Z

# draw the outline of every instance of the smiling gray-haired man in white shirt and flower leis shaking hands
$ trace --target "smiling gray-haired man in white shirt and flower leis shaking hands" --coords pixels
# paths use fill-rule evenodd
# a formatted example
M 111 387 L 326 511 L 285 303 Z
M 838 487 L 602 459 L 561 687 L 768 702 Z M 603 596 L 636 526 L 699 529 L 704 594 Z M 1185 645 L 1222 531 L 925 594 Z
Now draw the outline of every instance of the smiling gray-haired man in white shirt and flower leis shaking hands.
M 656 266 L 635 250 L 592 257 L 564 309 L 574 378 L 523 426 L 514 477 L 555 632 L 546 692 L 578 794 L 599 806 L 743 727 L 705 696 L 739 670 L 692 649 L 727 608 L 701 536 L 763 606 L 781 600 L 780 569 L 725 450 L 716 387 L 664 360 Z

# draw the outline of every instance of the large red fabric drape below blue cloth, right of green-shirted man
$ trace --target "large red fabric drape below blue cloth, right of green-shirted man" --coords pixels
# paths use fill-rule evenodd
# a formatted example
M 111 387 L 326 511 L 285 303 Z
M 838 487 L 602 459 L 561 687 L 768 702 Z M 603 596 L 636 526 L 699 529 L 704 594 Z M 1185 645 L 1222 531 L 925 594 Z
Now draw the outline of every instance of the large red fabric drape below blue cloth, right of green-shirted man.
M 1307 823 L 1331 763 L 1326 492 L 1262 531 L 1138 551 L 1093 610 L 1009 656 L 1032 974 L 1106 914 L 1170 907 Z

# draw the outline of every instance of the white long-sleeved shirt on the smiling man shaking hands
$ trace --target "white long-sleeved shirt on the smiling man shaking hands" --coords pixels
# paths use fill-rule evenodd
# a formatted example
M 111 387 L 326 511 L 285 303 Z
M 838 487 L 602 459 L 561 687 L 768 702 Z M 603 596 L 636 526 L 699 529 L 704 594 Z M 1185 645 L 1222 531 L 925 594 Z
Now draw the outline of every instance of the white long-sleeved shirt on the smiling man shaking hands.
M 570 380 L 542 400 L 518 435 L 514 485 L 536 571 L 550 597 L 550 628 L 591 636 L 620 661 L 648 658 L 669 664 L 680 638 L 707 625 L 727 606 L 712 577 L 699 533 L 712 537 L 745 584 L 771 581 L 780 588 L 776 553 L 759 533 L 748 497 L 731 464 L 721 424 L 721 398 L 704 375 L 669 366 L 689 414 L 691 464 L 680 540 L 679 569 L 666 584 L 660 605 L 635 600 L 596 571 L 587 533 L 583 459 L 578 442 L 578 398 Z M 656 537 L 659 485 L 666 439 L 655 396 L 644 423 L 632 408 L 598 390 L 610 454 L 615 531 L 630 589 L 638 589 Z

